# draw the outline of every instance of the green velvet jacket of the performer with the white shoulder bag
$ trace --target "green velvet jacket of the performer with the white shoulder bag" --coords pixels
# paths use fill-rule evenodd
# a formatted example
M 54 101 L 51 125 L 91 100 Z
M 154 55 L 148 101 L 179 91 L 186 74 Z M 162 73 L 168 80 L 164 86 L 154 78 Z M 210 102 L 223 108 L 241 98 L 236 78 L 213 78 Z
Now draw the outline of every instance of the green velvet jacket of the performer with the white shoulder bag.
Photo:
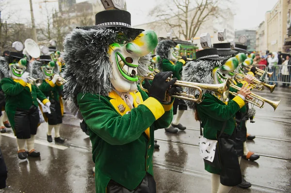
M 231 135 L 235 129 L 235 114 L 244 106 L 244 101 L 241 97 L 236 96 L 228 103 L 224 103 L 210 93 L 203 95 L 204 100 L 197 104 L 196 110 L 203 124 L 203 136 L 207 139 L 217 139 L 217 131 L 221 131 L 224 122 L 226 128 L 224 133 Z M 205 170 L 220 174 L 220 169 L 210 166 L 205 163 Z

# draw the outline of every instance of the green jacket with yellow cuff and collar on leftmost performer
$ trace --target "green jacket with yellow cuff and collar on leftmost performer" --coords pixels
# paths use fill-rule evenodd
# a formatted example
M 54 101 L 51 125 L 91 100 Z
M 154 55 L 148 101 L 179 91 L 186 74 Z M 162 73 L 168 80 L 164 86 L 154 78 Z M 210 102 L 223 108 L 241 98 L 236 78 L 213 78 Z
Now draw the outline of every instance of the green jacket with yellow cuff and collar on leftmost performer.
M 1 86 L 5 93 L 5 111 L 9 122 L 14 130 L 14 115 L 16 108 L 29 110 L 32 105 L 38 106 L 36 98 L 43 104 L 49 102 L 46 96 L 36 86 L 28 84 L 23 80 L 13 80 L 12 78 L 3 78 Z

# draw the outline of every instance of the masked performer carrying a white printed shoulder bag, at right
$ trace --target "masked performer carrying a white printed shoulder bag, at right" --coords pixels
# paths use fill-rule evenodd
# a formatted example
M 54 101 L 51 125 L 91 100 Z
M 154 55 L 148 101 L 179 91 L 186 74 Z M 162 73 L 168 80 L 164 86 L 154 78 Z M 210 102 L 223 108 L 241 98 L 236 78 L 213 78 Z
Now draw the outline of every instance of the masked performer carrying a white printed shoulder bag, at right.
M 238 66 L 236 58 L 220 58 L 214 48 L 196 52 L 196 60 L 188 62 L 183 69 L 184 81 L 219 84 L 233 77 Z M 227 59 L 227 60 L 226 60 Z M 197 94 L 193 89 L 186 89 L 189 94 Z M 242 182 L 239 159 L 234 149 L 235 114 L 244 106 L 244 99 L 250 94 L 249 89 L 242 88 L 238 96 L 224 102 L 220 94 L 203 90 L 204 100 L 195 104 L 186 101 L 195 110 L 195 119 L 201 121 L 203 136 L 216 140 L 218 136 L 228 142 L 228 147 L 218 143 L 221 165 L 205 163 L 205 170 L 211 175 L 211 193 L 228 193 L 232 186 Z M 220 135 L 221 130 L 224 130 Z

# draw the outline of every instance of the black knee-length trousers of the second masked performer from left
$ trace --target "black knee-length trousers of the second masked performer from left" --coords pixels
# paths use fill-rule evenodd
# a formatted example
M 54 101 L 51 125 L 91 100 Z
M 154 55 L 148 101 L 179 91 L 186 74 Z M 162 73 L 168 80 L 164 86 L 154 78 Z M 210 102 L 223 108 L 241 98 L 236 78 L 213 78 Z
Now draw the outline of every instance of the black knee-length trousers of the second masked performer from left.
M 47 113 L 48 123 L 49 125 L 57 125 L 61 124 L 63 121 L 61 104 L 59 101 L 50 100 L 50 112 Z

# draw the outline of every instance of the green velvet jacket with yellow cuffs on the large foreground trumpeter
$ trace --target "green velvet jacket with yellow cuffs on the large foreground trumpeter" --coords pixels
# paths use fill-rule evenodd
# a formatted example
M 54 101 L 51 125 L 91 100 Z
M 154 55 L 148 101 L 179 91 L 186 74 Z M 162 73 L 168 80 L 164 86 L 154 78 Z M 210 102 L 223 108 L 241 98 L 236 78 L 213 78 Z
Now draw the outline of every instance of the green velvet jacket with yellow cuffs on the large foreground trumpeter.
M 140 89 L 130 95 L 131 110 L 115 91 L 77 96 L 89 127 L 97 193 L 106 193 L 110 179 L 133 190 L 146 172 L 153 176 L 154 129 L 168 127 L 173 119 L 173 104 L 162 105 Z

